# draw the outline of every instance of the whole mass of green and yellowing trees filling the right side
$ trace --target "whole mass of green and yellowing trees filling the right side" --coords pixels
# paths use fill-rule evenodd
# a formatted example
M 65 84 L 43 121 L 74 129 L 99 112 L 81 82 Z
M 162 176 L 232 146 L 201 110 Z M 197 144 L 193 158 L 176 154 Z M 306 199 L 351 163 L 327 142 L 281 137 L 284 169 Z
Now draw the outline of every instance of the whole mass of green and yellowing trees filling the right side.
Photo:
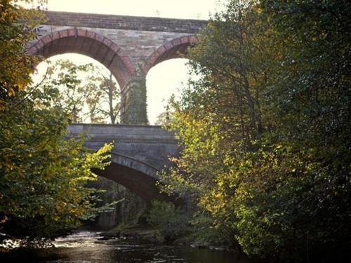
M 349 1 L 227 1 L 189 50 L 172 103 L 181 155 L 164 191 L 248 255 L 350 248 Z M 191 197 L 191 198 L 190 198 Z

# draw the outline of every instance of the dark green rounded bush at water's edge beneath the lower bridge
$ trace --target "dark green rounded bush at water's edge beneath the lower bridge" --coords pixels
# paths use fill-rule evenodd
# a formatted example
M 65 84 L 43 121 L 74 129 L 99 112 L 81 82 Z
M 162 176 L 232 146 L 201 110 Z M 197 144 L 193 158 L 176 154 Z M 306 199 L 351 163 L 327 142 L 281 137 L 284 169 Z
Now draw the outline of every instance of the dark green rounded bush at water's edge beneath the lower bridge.
M 183 236 L 189 215 L 173 203 L 153 201 L 147 222 L 158 231 L 160 241 L 174 241 Z

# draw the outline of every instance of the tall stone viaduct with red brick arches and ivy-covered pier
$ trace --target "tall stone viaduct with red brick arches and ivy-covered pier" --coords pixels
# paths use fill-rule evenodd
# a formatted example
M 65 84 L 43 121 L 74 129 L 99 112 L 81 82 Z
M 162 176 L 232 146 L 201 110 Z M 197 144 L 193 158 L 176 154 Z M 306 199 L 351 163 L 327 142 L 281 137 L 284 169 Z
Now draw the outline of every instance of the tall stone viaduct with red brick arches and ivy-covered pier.
M 98 60 L 121 88 L 121 122 L 132 124 L 147 124 L 147 72 L 159 62 L 185 54 L 206 25 L 204 20 L 53 11 L 47 11 L 46 17 L 28 52 L 45 58 L 80 53 Z

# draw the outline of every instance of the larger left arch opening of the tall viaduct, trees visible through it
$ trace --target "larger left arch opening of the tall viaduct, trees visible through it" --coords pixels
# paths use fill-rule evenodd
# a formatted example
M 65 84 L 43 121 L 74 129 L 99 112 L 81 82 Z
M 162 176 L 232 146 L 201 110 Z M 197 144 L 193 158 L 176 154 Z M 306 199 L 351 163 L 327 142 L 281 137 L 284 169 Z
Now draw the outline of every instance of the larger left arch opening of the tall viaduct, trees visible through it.
M 84 65 L 89 65 L 84 67 Z M 75 123 L 119 123 L 121 108 L 121 89 L 109 69 L 97 60 L 78 53 L 53 55 L 37 65 L 33 74 L 34 84 L 46 84 L 58 81 L 59 74 L 69 74 L 70 67 L 84 67 L 86 71 L 77 71 L 76 88 L 67 88 L 64 84 L 54 84 L 60 90 L 60 106 L 72 107 L 77 103 L 77 121 Z M 53 70 L 55 69 L 55 70 Z M 50 72 L 50 73 L 49 73 Z M 47 79 L 45 79 L 47 78 Z M 44 83 L 41 81 L 44 80 Z M 70 102 L 70 103 L 69 103 Z

